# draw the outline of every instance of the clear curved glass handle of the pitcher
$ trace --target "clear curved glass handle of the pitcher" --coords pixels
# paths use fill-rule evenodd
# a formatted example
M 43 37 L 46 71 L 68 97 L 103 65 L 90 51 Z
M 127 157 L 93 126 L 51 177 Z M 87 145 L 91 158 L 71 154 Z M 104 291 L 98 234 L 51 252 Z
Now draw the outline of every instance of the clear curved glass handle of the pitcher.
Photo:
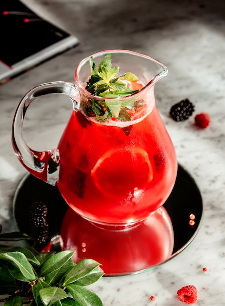
M 73 109 L 79 109 L 78 87 L 70 82 L 57 81 L 38 85 L 30 89 L 21 99 L 13 119 L 12 144 L 20 163 L 34 176 L 55 185 L 59 178 L 60 152 L 50 149 L 39 152 L 27 146 L 22 136 L 23 120 L 26 110 L 33 100 L 49 93 L 63 93 L 70 97 Z

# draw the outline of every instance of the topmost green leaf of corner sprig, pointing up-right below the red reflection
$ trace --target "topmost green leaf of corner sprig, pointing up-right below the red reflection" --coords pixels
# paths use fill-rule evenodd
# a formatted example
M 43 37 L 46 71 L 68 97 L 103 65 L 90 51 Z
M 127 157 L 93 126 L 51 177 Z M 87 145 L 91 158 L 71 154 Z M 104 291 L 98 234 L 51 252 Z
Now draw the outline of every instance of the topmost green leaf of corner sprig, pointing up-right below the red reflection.
M 43 263 L 40 270 L 40 277 L 58 270 L 73 256 L 74 251 L 61 251 L 50 257 Z

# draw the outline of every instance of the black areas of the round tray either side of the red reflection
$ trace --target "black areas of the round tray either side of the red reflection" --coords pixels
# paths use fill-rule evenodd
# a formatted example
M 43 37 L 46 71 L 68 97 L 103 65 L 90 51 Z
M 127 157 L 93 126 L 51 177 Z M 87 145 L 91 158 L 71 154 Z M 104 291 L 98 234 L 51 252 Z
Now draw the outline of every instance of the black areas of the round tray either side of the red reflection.
M 21 180 L 13 201 L 18 230 L 30 235 L 29 208 L 36 201 L 43 201 L 48 207 L 49 237 L 59 234 L 68 205 L 56 186 L 51 186 L 30 174 Z M 193 177 L 180 164 L 174 188 L 164 203 L 164 208 L 171 218 L 174 231 L 174 248 L 169 258 L 171 259 L 194 239 L 203 217 L 201 192 Z M 191 214 L 195 216 L 194 225 L 189 224 Z

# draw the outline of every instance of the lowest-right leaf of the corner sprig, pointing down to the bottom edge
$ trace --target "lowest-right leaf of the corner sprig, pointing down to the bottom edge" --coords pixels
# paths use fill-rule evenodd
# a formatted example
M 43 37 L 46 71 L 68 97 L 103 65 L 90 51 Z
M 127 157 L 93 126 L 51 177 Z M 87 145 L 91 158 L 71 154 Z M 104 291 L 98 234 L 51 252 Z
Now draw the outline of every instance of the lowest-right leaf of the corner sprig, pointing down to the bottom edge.
M 101 299 L 91 290 L 76 284 L 66 286 L 79 306 L 103 306 Z

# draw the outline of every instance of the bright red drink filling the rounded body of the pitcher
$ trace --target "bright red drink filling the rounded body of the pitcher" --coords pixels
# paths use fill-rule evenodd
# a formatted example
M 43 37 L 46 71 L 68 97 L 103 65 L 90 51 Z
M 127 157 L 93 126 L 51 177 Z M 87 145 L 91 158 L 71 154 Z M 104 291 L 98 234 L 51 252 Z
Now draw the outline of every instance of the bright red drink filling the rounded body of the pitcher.
M 123 127 L 73 111 L 58 148 L 61 195 L 82 217 L 100 224 L 146 219 L 164 204 L 176 180 L 176 154 L 155 103 L 147 116 Z

